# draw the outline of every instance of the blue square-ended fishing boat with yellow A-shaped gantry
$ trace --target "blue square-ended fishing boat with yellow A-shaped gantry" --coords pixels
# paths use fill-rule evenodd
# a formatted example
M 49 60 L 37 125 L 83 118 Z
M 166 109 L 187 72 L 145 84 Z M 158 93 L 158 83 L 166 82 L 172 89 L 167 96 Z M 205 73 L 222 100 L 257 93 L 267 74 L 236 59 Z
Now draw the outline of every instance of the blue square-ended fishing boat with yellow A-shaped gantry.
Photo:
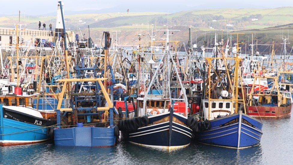
M 61 1 L 59 7 L 63 34 L 66 34 Z M 103 72 L 96 64 L 85 67 L 84 60 L 81 60 L 81 67 L 75 65 L 77 74 L 74 77 L 70 76 L 72 67 L 71 63 L 68 63 L 68 48 L 64 37 L 67 78 L 57 81 L 62 84 L 56 108 L 57 128 L 54 129 L 54 144 L 57 146 L 111 147 L 117 144 L 119 130 L 113 123 L 113 103 L 106 90 L 107 53 L 111 38 L 109 32 L 104 32 L 103 35 L 105 37 Z M 109 88 L 113 91 L 113 85 L 109 85 Z M 62 108 L 65 96 L 70 96 L 70 105 Z

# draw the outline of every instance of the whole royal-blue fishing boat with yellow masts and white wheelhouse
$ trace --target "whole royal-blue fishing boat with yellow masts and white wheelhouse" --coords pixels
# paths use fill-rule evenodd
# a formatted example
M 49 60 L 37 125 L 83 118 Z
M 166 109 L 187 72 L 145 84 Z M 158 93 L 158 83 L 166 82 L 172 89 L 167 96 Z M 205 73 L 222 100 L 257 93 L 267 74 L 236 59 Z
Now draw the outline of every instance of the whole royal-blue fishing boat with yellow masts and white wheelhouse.
M 204 120 L 199 124 L 200 131 L 195 135 L 197 142 L 235 149 L 259 145 L 263 124 L 246 115 L 243 86 L 239 83 L 242 82 L 239 71 L 241 59 L 236 54 L 231 58 L 211 57 L 206 60 L 207 83 L 202 100 Z M 227 63 L 234 65 L 228 66 Z M 225 70 L 218 70 L 216 64 L 223 65 Z M 206 123 L 210 123 L 210 126 Z

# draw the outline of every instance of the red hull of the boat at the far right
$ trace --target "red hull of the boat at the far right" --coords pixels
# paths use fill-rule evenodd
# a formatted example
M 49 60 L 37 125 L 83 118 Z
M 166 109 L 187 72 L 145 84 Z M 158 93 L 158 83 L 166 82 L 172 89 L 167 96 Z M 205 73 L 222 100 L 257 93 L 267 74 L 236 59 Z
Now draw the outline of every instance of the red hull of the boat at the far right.
M 291 115 L 292 104 L 277 106 L 248 106 L 248 115 L 256 118 L 284 118 Z

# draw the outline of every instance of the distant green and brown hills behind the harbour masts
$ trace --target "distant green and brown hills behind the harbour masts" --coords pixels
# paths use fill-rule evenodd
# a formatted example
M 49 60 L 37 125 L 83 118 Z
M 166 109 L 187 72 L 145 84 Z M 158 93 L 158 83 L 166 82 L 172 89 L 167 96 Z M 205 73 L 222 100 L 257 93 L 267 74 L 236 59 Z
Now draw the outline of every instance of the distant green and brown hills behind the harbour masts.
M 150 6 L 152 5 L 150 4 Z M 143 34 L 141 42 L 148 44 L 150 39 L 148 36 L 152 25 L 155 28 L 154 32 L 156 32 L 156 29 L 166 28 L 166 26 L 181 30 L 176 32 L 172 38 L 180 40 L 182 43 L 187 43 L 188 28 L 192 26 L 192 41 L 198 43 L 198 45 L 204 44 L 203 41 L 207 45 L 212 44 L 215 31 L 219 35 L 218 38 L 223 37 L 223 39 L 229 37 L 229 32 L 244 32 L 246 35 L 241 36 L 241 38 L 247 45 L 251 42 L 251 33 L 255 33 L 259 43 L 265 44 L 272 43 L 273 40 L 276 44 L 280 44 L 282 35 L 289 34 L 289 38 L 293 38 L 293 36 L 291 37 L 291 34 L 293 34 L 293 7 L 217 9 L 216 5 L 210 4 L 209 7 L 215 8 L 203 10 L 197 9 L 203 8 L 200 5 L 186 7 L 184 4 L 179 4 L 178 12 L 168 14 L 168 11 L 155 12 L 162 10 L 157 10 L 156 6 L 153 6 L 153 8 L 150 8 L 150 6 L 137 6 L 137 8 L 129 9 L 129 13 L 126 12 L 127 4 L 116 9 L 65 11 L 66 28 L 74 30 L 77 34 L 80 34 L 80 28 L 83 35 L 87 37 L 87 26 L 89 25 L 91 37 L 96 43 L 99 43 L 98 38 L 101 38 L 102 31 L 110 31 L 114 36 L 115 31 L 119 31 L 119 41 L 125 45 L 137 44 L 138 34 Z M 143 10 L 140 10 L 142 8 Z M 187 11 L 181 11 L 183 9 Z M 138 12 L 146 10 L 149 12 Z M 56 13 L 21 17 L 21 23 L 32 29 L 37 28 L 38 21 L 47 25 L 52 23 L 54 27 L 55 15 Z M 17 22 L 17 16 L 0 17 L 0 26 L 2 27 L 13 27 Z M 163 38 L 164 35 L 157 32 L 156 37 L 159 39 Z M 196 38 L 198 42 L 196 42 Z

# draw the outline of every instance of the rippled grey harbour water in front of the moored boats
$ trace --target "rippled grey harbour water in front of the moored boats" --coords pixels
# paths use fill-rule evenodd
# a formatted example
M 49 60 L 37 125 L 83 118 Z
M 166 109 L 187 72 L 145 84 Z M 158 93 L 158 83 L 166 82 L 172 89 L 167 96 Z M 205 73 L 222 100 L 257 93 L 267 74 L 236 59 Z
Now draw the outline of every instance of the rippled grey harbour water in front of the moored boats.
M 172 152 L 127 142 L 112 148 L 57 147 L 44 143 L 0 147 L 0 164 L 291 164 L 293 119 L 263 123 L 261 144 L 238 151 L 196 142 Z

